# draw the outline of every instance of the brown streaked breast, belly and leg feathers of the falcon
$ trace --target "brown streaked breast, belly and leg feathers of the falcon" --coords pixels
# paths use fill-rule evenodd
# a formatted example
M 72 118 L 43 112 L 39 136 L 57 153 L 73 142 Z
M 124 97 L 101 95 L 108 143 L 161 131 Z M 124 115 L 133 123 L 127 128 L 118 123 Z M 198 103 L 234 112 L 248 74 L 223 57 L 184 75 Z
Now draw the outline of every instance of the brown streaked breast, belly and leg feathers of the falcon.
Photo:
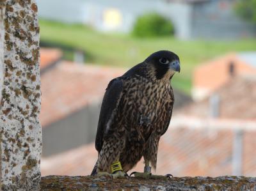
M 122 80 L 122 98 L 103 138 L 97 172 L 111 173 L 115 161 L 120 161 L 127 172 L 143 156 L 156 169 L 158 142 L 172 116 L 170 77 L 152 80 L 135 75 Z

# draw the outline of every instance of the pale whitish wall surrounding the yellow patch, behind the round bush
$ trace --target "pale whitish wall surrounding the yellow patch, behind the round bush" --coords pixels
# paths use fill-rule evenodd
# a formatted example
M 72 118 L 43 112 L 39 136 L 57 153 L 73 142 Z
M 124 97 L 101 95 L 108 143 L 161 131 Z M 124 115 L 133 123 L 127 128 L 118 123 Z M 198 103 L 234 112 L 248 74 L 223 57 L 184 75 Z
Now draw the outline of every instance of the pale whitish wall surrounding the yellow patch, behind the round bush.
M 39 16 L 43 19 L 58 20 L 60 22 L 84 23 L 95 27 L 99 31 L 118 31 L 129 33 L 138 16 L 145 13 L 157 12 L 172 20 L 175 35 L 181 39 L 190 36 L 191 4 L 167 3 L 166 1 L 140 0 L 36 0 Z M 116 10 L 122 17 L 122 22 L 116 27 L 109 27 L 104 22 L 104 13 Z

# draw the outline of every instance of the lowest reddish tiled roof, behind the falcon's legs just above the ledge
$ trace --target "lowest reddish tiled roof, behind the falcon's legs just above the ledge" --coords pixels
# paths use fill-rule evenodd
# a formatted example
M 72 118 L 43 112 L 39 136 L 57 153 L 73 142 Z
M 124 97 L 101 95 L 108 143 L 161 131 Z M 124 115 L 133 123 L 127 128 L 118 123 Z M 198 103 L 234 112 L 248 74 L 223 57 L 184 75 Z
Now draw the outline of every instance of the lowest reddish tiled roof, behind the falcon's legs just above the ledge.
M 230 121 L 229 121 L 230 122 Z M 227 121 L 174 117 L 159 143 L 156 174 L 173 176 L 220 176 L 232 174 L 234 128 Z M 243 175 L 256 176 L 256 123 L 244 124 Z M 213 126 L 212 126 L 213 125 Z M 238 128 L 238 127 L 237 127 Z M 243 129 L 243 126 L 240 126 Z M 97 160 L 94 144 L 42 158 L 42 176 L 90 174 Z M 143 161 L 132 171 L 143 171 Z M 131 172 L 132 172 L 131 171 Z

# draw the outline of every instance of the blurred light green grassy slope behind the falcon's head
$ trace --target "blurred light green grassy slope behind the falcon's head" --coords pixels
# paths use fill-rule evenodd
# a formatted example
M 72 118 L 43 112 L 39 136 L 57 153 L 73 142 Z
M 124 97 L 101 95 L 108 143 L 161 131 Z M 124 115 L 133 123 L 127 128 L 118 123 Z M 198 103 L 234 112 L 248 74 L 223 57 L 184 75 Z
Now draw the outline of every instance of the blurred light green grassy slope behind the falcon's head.
M 86 52 L 86 63 L 127 67 L 136 65 L 157 50 L 172 50 L 180 57 L 181 71 L 173 86 L 186 93 L 191 89 L 193 69 L 200 63 L 232 51 L 256 50 L 256 40 L 204 41 L 161 38 L 134 38 L 126 34 L 100 33 L 81 24 L 40 20 L 41 42 L 65 45 Z M 67 56 L 68 57 L 68 56 Z

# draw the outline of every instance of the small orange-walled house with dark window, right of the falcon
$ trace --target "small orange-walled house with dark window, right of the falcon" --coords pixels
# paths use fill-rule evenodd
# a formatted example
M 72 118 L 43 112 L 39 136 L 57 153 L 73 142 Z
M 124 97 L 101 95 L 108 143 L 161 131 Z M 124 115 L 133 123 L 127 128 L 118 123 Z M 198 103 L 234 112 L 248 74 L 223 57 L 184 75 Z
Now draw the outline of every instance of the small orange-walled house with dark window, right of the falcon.
M 256 52 L 230 53 L 196 67 L 192 96 L 202 100 L 236 76 L 256 75 Z

